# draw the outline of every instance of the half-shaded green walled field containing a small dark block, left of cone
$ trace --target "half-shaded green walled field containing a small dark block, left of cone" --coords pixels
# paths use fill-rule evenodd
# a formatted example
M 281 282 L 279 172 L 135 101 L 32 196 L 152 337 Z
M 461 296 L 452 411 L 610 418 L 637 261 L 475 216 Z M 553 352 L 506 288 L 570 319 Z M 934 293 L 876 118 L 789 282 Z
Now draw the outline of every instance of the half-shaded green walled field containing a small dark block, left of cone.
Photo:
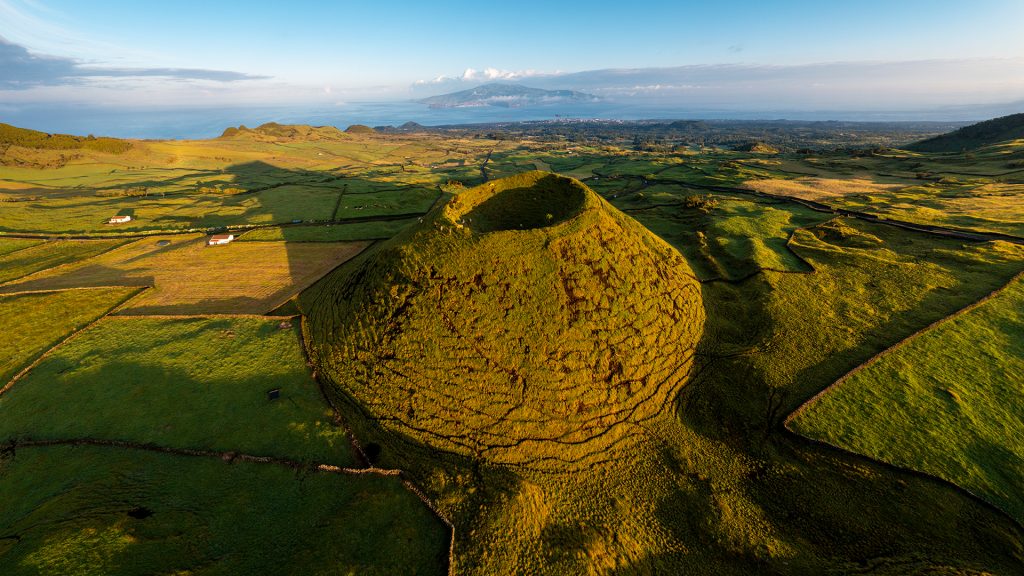
M 344 431 L 305 370 L 298 327 L 279 322 L 104 320 L 0 397 L 0 439 L 125 440 L 348 464 Z M 271 402 L 274 387 L 282 398 Z

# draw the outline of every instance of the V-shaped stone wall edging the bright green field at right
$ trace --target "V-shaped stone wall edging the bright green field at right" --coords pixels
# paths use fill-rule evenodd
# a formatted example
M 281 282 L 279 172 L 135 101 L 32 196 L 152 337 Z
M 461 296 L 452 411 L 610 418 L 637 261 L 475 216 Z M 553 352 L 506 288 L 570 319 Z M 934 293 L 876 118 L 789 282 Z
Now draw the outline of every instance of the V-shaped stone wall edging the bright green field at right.
M 1007 291 L 1013 284 L 1015 284 L 1016 282 L 1021 281 L 1021 280 L 1024 280 L 1024 271 L 1021 271 L 1021 272 L 1017 273 L 1016 275 L 1013 276 L 1013 278 L 1010 279 L 1009 282 L 1007 282 L 1002 286 L 999 286 L 995 290 L 992 290 L 987 295 L 982 296 L 977 301 L 975 301 L 973 303 L 970 303 L 970 304 L 968 304 L 968 305 L 966 305 L 966 306 L 957 310 L 956 312 L 954 312 L 954 313 L 952 313 L 952 314 L 950 314 L 948 316 L 945 316 L 943 318 L 940 318 L 939 320 L 936 320 L 935 322 L 933 322 L 933 323 L 929 324 L 928 326 L 926 326 L 926 327 L 924 327 L 924 328 L 922 328 L 922 329 L 913 332 L 912 334 L 904 337 L 903 339 L 899 340 L 895 344 L 893 344 L 893 345 L 891 345 L 891 346 L 883 349 L 882 352 L 879 352 L 878 354 L 876 354 L 871 358 L 869 358 L 869 359 L 865 360 L 864 362 L 862 362 L 861 364 L 857 365 L 856 367 L 854 367 L 852 370 L 850 370 L 846 374 L 840 376 L 840 378 L 838 380 L 836 380 L 831 384 L 828 384 L 827 386 L 825 386 L 824 388 L 822 388 L 821 390 L 819 390 L 817 394 L 815 394 L 810 399 L 806 400 L 804 403 L 802 403 L 800 406 L 798 406 L 796 410 L 794 410 L 793 412 L 791 412 L 785 417 L 785 419 L 782 420 L 782 425 L 781 425 L 782 431 L 786 436 L 788 436 L 791 438 L 799 439 L 799 441 L 809 443 L 809 444 L 811 444 L 813 446 L 824 447 L 824 448 L 827 448 L 829 450 L 834 450 L 834 451 L 840 452 L 843 455 L 845 455 L 846 457 L 853 456 L 853 457 L 860 458 L 860 459 L 863 459 L 865 461 L 872 462 L 874 464 L 881 465 L 881 466 L 886 467 L 888 469 L 897 470 L 897 471 L 900 471 L 900 472 L 903 472 L 903 474 L 909 474 L 910 476 L 914 476 L 914 477 L 918 477 L 918 478 L 924 478 L 924 479 L 930 480 L 932 482 L 938 482 L 938 483 L 942 484 L 943 486 L 951 487 L 951 488 L 953 488 L 956 491 L 959 491 L 959 492 L 962 492 L 964 494 L 967 494 L 971 499 L 973 499 L 973 500 L 981 503 L 986 508 L 988 508 L 990 510 L 994 510 L 997 513 L 999 513 L 1000 516 L 1002 516 L 1004 518 L 1009 519 L 1017 528 L 1019 528 L 1020 530 L 1024 531 L 1024 522 L 1021 522 L 1016 517 L 1014 517 L 1013 515 L 1011 515 L 1007 510 L 1002 509 L 998 504 L 995 504 L 995 503 L 991 502 L 987 498 L 985 498 L 985 497 L 983 497 L 983 496 L 981 496 L 981 495 L 973 492 L 972 490 L 970 490 L 970 489 L 968 489 L 968 488 L 966 488 L 964 486 L 961 486 L 959 484 L 956 484 L 955 482 L 952 482 L 950 480 L 946 480 L 946 479 L 944 479 L 944 478 L 942 478 L 942 477 L 940 477 L 938 475 L 934 475 L 934 474 L 927 472 L 927 471 L 924 471 L 924 470 L 919 470 L 916 468 L 902 466 L 902 465 L 899 465 L 899 464 L 895 464 L 893 462 L 888 462 L 886 460 L 882 460 L 880 458 L 876 458 L 876 457 L 867 455 L 867 454 L 862 454 L 860 452 L 856 452 L 854 450 L 850 450 L 850 449 L 845 448 L 843 446 L 840 446 L 838 444 L 834 444 L 831 442 L 828 442 L 827 440 L 820 440 L 820 439 L 817 439 L 817 438 L 811 438 L 809 436 L 805 436 L 803 434 L 800 434 L 799 431 L 797 431 L 797 430 L 795 430 L 795 429 L 793 429 L 791 427 L 791 423 L 793 422 L 793 420 L 795 420 L 801 414 L 803 414 L 811 405 L 813 405 L 814 403 L 816 403 L 818 400 L 820 400 L 821 398 L 823 398 L 825 395 L 827 395 L 831 390 L 836 389 L 838 386 L 840 386 L 843 383 L 845 383 L 849 378 L 853 377 L 854 375 L 856 375 L 860 371 L 862 371 L 865 368 L 868 368 L 871 365 L 876 364 L 878 361 L 880 361 L 883 357 L 887 356 L 889 353 L 896 352 L 899 348 L 901 348 L 904 345 L 906 345 L 907 343 L 915 340 L 919 336 L 922 336 L 922 335 L 924 335 L 924 334 L 926 334 L 928 332 L 931 332 L 932 330 L 938 328 L 939 326 L 942 326 L 942 325 L 946 324 L 947 322 L 951 322 L 951 321 L 953 321 L 953 320 L 955 320 L 955 319 L 957 319 L 957 318 L 959 318 L 959 317 L 962 317 L 962 316 L 964 316 L 964 315 L 966 315 L 966 314 L 968 314 L 968 313 L 970 313 L 970 312 L 972 312 L 974 310 L 977 310 L 978 307 L 981 307 L 982 305 L 984 305 L 985 303 L 989 302 L 990 300 L 992 300 L 996 296 L 1000 295 L 1002 292 Z

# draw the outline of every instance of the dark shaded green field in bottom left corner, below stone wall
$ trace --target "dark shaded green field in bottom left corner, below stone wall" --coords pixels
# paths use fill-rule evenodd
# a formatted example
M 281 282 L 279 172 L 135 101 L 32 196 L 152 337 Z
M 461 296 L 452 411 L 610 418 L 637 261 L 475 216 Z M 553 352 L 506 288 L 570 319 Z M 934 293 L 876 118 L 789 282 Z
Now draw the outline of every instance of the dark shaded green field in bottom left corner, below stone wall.
M 0 459 L 0 527 L 8 576 L 439 574 L 447 551 L 394 478 L 89 447 Z

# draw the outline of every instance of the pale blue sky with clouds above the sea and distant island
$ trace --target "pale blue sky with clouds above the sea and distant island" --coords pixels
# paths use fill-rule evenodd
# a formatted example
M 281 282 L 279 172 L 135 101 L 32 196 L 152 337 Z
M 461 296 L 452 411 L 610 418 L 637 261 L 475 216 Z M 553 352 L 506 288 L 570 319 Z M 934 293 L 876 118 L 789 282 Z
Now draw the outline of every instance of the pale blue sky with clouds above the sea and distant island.
M 846 107 L 1012 101 L 1024 99 L 1021 23 L 1021 0 L 0 0 L 0 106 L 330 104 L 488 79 L 681 104 L 745 90 L 751 106 L 821 106 L 826 85 Z M 646 73 L 585 77 L 607 69 Z M 817 95 L 787 92 L 794 78 Z

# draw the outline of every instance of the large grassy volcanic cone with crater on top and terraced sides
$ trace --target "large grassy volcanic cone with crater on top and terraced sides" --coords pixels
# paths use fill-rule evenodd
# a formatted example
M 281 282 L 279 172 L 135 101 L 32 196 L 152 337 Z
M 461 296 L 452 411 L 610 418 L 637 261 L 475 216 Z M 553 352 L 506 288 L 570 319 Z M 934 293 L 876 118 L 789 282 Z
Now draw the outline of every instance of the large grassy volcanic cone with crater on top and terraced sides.
M 539 171 L 461 193 L 303 298 L 317 372 L 396 433 L 382 442 L 530 468 L 629 449 L 705 322 L 674 248 Z

